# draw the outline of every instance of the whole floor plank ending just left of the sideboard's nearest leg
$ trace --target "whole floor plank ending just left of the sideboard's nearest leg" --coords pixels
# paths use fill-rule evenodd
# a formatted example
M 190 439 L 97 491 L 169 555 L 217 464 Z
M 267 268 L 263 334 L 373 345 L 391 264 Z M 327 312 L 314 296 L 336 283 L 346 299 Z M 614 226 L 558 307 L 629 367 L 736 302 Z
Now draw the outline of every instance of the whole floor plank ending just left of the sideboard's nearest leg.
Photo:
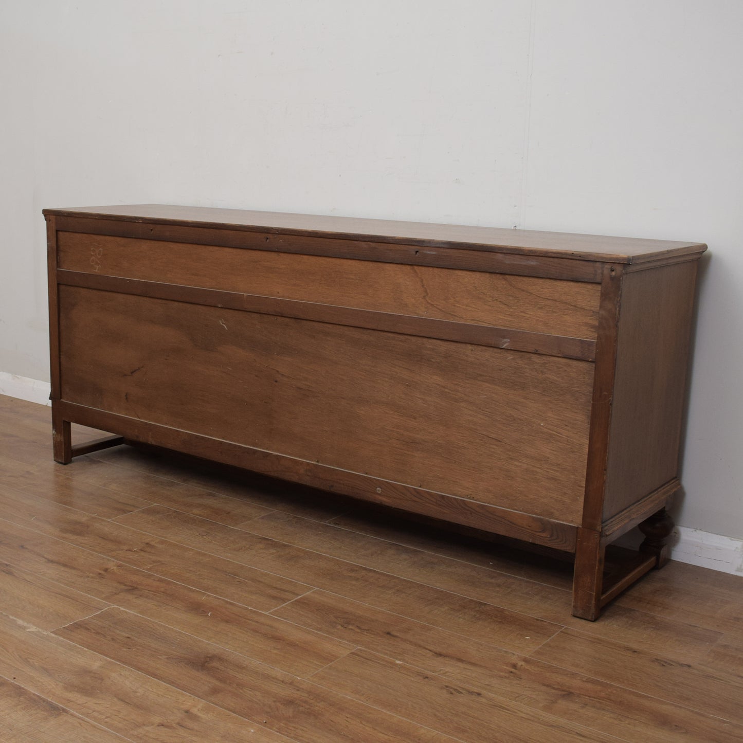
M 507 649 L 534 649 L 560 629 L 525 614 L 159 506 L 121 516 L 117 522 Z

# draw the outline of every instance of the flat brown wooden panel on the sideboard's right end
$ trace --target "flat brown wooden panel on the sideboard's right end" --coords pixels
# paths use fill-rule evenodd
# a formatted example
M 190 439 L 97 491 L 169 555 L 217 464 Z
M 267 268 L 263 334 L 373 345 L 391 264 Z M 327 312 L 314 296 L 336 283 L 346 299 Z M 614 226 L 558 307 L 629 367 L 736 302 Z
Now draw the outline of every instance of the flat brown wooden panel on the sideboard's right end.
M 604 519 L 678 476 L 696 270 L 681 263 L 623 279 Z

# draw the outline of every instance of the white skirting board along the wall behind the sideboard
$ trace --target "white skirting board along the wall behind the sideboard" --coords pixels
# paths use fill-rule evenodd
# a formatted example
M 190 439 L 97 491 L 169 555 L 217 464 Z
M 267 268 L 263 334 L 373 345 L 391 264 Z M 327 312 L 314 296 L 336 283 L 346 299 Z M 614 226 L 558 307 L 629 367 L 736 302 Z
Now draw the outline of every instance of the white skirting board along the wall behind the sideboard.
M 0 395 L 49 405 L 50 389 L 48 382 L 0 371 Z M 671 559 L 743 576 L 743 539 L 679 526 L 672 538 Z

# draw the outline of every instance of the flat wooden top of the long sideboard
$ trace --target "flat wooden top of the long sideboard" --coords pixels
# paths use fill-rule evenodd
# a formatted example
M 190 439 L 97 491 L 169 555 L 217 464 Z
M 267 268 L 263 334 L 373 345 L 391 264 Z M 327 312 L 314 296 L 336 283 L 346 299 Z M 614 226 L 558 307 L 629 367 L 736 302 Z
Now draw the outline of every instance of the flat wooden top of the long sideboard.
M 117 221 L 287 233 L 335 239 L 367 239 L 374 242 L 417 244 L 424 247 L 459 247 L 493 253 L 517 253 L 611 263 L 658 261 L 675 256 L 697 255 L 707 249 L 705 244 L 698 242 L 212 207 L 180 207 L 168 204 L 45 209 L 44 214 L 88 219 L 114 218 Z

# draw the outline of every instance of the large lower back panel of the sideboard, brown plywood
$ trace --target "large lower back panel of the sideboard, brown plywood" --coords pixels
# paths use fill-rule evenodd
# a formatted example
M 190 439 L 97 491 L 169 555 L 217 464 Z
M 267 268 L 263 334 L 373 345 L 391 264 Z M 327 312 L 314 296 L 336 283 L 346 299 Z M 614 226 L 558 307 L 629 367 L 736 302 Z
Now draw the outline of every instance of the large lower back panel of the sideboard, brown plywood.
M 65 400 L 580 520 L 588 363 L 71 287 L 60 301 Z

